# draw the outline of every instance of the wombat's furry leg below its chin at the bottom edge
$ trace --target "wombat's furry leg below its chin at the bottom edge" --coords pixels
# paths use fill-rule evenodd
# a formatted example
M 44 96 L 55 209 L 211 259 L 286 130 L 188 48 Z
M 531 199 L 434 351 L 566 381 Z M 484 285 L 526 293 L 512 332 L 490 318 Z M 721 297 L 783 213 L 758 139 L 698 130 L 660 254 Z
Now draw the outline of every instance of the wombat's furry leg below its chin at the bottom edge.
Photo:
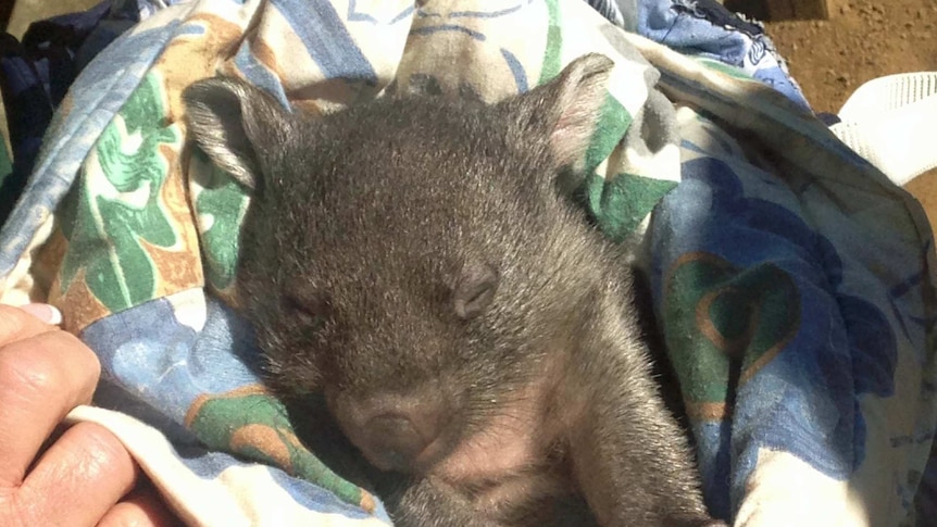
M 428 477 L 384 497 L 395 527 L 504 527 L 478 513 L 467 498 Z

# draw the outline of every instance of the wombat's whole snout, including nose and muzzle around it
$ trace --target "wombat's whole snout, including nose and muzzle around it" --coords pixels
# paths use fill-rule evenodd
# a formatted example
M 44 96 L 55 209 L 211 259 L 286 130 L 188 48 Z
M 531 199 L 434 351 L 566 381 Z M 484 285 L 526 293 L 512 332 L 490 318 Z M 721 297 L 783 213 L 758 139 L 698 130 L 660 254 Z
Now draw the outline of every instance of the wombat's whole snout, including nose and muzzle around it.
M 336 409 L 346 434 L 367 461 L 383 470 L 410 472 L 439 437 L 443 403 L 439 397 L 378 396 L 343 401 Z

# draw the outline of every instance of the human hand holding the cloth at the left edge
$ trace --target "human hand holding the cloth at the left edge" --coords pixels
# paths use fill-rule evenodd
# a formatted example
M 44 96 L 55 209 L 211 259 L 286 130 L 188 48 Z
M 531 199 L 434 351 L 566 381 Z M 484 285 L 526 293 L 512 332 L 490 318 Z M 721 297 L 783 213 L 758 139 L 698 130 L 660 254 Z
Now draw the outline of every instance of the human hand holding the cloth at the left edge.
M 0 525 L 178 523 L 107 428 L 61 430 L 90 402 L 101 366 L 58 318 L 45 304 L 0 305 Z

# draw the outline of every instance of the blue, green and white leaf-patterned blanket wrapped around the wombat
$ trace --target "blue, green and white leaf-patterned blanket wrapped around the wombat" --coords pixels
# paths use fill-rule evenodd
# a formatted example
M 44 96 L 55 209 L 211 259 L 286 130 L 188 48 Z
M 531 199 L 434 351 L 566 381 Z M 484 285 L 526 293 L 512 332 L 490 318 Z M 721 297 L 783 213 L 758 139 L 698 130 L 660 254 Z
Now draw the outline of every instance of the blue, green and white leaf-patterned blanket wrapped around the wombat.
M 186 140 L 180 91 L 227 75 L 313 112 L 388 87 L 495 101 L 585 52 L 615 68 L 575 197 L 642 249 L 713 514 L 937 517 L 929 226 L 810 112 L 757 24 L 704 0 L 165 3 L 87 15 L 139 22 L 66 58 L 85 59 L 41 150 L 14 158 L 30 176 L 0 300 L 63 311 L 103 367 L 70 418 L 112 429 L 187 523 L 390 520 L 259 380 L 230 308 L 249 199 Z

